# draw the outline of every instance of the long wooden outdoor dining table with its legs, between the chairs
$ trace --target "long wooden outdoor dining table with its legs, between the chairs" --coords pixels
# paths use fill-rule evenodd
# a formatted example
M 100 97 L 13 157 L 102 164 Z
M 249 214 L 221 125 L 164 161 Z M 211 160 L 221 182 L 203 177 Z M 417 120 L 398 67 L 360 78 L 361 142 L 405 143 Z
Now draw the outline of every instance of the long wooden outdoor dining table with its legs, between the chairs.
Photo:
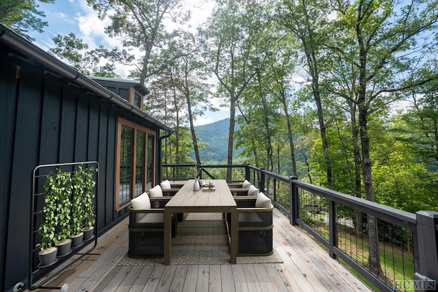
M 170 265 L 171 255 L 171 216 L 173 213 L 229 213 L 231 214 L 230 228 L 230 262 L 237 260 L 237 206 L 227 181 L 215 179 L 206 181 L 212 183 L 214 189 L 194 191 L 194 180 L 179 189 L 177 194 L 164 207 L 164 265 Z M 202 224 L 202 221 L 200 221 Z

